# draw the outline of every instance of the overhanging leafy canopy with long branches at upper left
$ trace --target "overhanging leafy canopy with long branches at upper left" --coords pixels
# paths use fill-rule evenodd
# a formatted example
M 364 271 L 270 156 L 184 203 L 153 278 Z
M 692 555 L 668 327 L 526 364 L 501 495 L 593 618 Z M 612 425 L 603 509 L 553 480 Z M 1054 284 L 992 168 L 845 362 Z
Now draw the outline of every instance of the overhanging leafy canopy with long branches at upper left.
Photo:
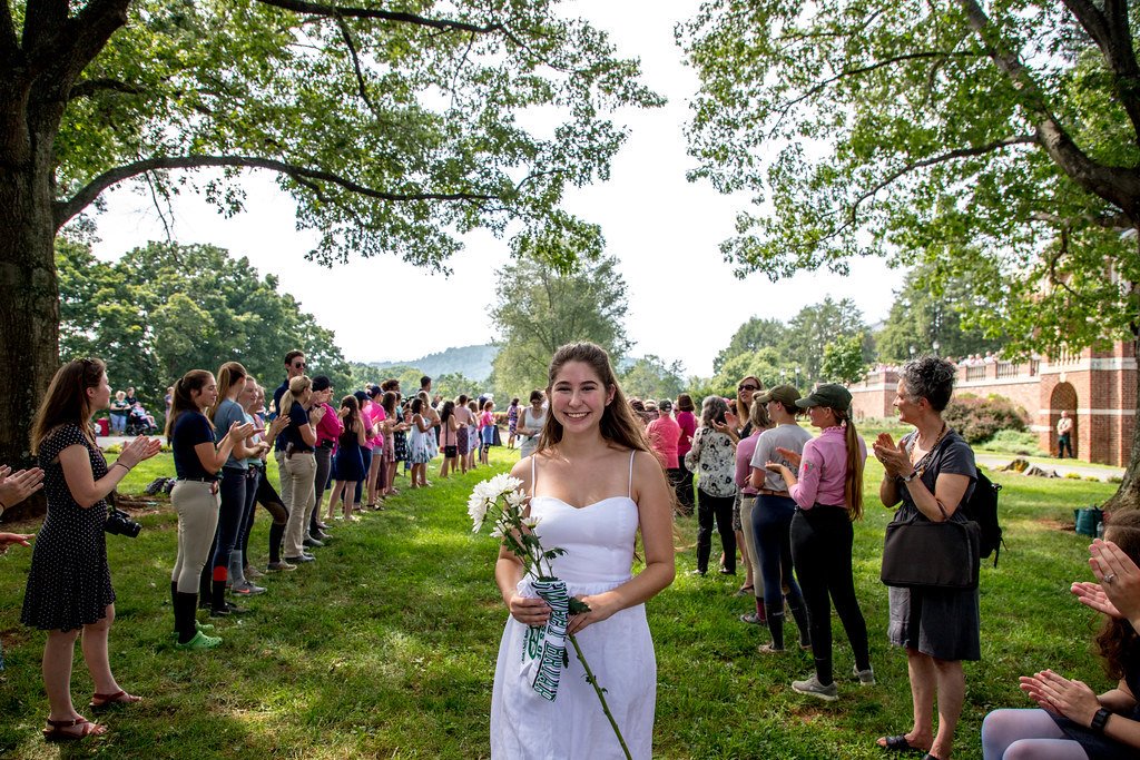
M 120 0 L 72 23 L 113 5 L 127 24 L 71 88 L 56 140 L 60 223 L 128 178 L 235 213 L 239 187 L 177 171 L 215 166 L 275 172 L 324 262 L 445 267 L 457 234 L 511 222 L 540 251 L 596 232 L 557 203 L 608 174 L 625 136 L 601 113 L 660 103 L 604 33 L 547 1 Z M 535 129 L 538 111 L 560 123 Z

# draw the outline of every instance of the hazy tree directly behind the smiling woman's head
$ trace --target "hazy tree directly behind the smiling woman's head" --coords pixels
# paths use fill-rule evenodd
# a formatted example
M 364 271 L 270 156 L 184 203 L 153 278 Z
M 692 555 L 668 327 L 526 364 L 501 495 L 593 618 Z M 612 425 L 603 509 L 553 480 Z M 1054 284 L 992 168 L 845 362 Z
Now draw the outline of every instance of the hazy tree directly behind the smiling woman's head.
M 500 395 L 546 387 L 551 357 L 567 343 L 593 341 L 614 363 L 629 348 L 626 281 L 612 256 L 583 261 L 568 273 L 518 261 L 499 272 L 495 299 L 491 319 L 503 348 L 492 378 Z

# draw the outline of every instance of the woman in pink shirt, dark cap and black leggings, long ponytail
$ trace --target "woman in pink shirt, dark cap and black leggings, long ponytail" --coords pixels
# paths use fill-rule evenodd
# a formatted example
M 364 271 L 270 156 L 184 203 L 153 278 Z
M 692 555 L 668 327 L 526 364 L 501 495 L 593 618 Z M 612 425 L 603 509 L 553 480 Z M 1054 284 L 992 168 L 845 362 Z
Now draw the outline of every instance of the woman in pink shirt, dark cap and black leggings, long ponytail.
M 806 680 L 792 681 L 791 687 L 828 702 L 839 698 L 831 672 L 832 603 L 855 655 L 856 678 L 865 686 L 874 684 L 866 621 L 855 598 L 852 575 L 855 539 L 852 522 L 863 516 L 866 444 L 855 432 L 850 402 L 847 389 L 833 383 L 824 383 L 806 399 L 796 401 L 797 407 L 807 409 L 812 425 L 823 432 L 804 446 L 803 456 L 790 449 L 776 449 L 781 457 L 798 464 L 798 477 L 783 463 L 765 464 L 765 469 L 783 476 L 796 501 L 791 559 L 807 603 L 815 657 L 815 673 Z

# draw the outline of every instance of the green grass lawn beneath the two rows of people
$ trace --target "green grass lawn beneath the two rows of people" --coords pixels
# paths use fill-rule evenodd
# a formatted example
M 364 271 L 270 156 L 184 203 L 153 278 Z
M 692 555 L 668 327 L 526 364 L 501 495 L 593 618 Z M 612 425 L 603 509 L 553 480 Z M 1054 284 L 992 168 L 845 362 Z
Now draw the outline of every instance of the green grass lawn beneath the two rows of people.
M 516 455 L 492 453 L 495 471 Z M 124 490 L 172 474 L 170 456 L 137 468 Z M 63 750 L 103 758 L 486 758 L 495 657 L 506 611 L 492 579 L 495 541 L 472 536 L 465 501 L 487 469 L 405 491 L 382 513 L 337 524 L 318 559 L 264 579 L 269 593 L 245 600 L 251 613 L 221 621 L 225 643 L 187 654 L 169 638 L 170 567 L 177 521 L 164 499 L 135 540 L 108 536 L 119 595 L 112 663 L 146 702 L 105 718 L 111 732 Z M 868 465 L 868 493 L 881 469 Z M 1068 594 L 1091 577 L 1088 540 L 1060 529 L 1072 509 L 1115 487 L 997 474 L 1008 550 L 982 571 L 983 661 L 967 665 L 967 705 L 955 758 L 980 758 L 978 730 L 996 706 L 1031 706 L 1017 676 L 1043 667 L 1098 690 L 1108 680 L 1090 654 L 1094 615 Z M 869 498 L 869 504 L 872 499 Z M 876 502 L 877 504 L 877 502 Z M 838 620 L 840 701 L 793 694 L 811 672 L 807 653 L 762 657 L 766 631 L 738 621 L 750 600 L 733 598 L 740 579 L 684 575 L 694 551 L 677 556 L 676 582 L 651 600 L 658 657 L 654 751 L 661 758 L 882 758 L 876 737 L 910 726 L 902 652 L 886 643 L 887 590 L 879 582 L 890 513 L 870 506 L 856 526 L 856 586 L 879 684 L 860 688 Z M 267 513 L 259 509 L 251 551 L 264 562 Z M 684 546 L 695 521 L 679 521 Z M 19 606 L 31 551 L 0 557 L 0 757 L 55 758 L 40 728 L 43 634 L 23 628 Z M 789 635 L 791 623 L 789 623 Z M 605 673 L 600 673 L 604 686 Z M 90 679 L 76 654 L 73 695 L 83 711 Z

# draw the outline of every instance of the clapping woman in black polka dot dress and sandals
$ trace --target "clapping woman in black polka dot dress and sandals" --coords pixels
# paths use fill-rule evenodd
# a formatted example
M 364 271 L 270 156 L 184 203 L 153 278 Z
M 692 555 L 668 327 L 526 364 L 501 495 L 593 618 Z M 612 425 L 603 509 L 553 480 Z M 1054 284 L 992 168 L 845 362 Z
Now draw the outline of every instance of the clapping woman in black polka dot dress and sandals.
M 32 452 L 44 471 L 48 515 L 36 536 L 21 620 L 48 631 L 43 647 L 43 687 L 50 704 L 43 736 L 48 741 L 106 730 L 72 704 L 72 657 L 81 630 L 83 660 L 95 681 L 90 708 L 139 698 L 123 690 L 111 673 L 107 632 L 115 619 L 115 591 L 103 525 L 106 496 L 131 467 L 157 453 L 160 442 L 135 439 L 108 467 L 95 443 L 90 419 L 109 403 L 104 363 L 78 359 L 56 373 L 32 426 Z

